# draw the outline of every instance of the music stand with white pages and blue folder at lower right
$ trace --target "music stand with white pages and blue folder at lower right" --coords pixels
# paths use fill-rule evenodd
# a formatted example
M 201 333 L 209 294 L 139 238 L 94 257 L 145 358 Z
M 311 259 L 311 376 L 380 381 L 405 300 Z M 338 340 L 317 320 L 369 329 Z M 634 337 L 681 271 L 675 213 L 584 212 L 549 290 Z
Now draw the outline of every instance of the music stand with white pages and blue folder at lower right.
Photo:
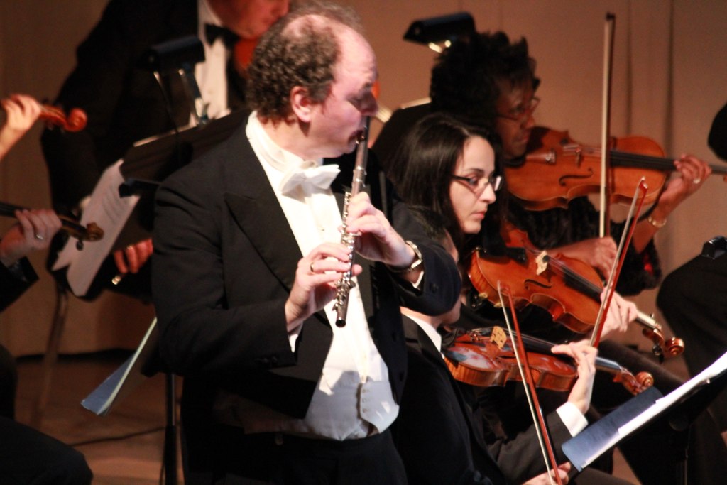
M 646 426 L 678 433 L 678 477 L 686 484 L 688 428 L 712 400 L 727 386 L 727 353 L 666 396 L 649 388 L 566 441 L 563 453 L 581 471 L 601 454 L 613 449 Z

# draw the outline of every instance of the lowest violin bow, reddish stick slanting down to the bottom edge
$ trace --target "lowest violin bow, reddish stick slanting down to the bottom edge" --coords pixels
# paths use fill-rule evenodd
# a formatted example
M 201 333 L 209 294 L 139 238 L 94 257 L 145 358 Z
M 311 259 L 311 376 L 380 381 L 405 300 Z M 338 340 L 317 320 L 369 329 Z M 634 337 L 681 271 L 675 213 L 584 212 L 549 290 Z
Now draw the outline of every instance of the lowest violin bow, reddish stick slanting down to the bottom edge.
M 503 289 L 507 292 L 507 298 L 510 300 L 510 313 L 513 316 L 513 324 L 515 326 L 515 332 L 513 332 L 513 324 L 510 324 L 510 318 L 507 316 L 507 306 L 505 300 L 502 297 Z M 530 406 L 530 413 L 533 417 L 533 422 L 536 424 L 535 430 L 540 443 L 540 450 L 543 454 L 543 460 L 545 460 L 545 469 L 547 470 L 548 478 L 550 479 L 550 485 L 563 485 L 561 476 L 558 474 L 558 461 L 555 460 L 555 452 L 553 452 L 553 441 L 550 439 L 550 433 L 548 433 L 547 425 L 545 424 L 545 418 L 540 408 L 540 402 L 538 401 L 537 392 L 535 390 L 535 382 L 533 382 L 533 374 L 530 370 L 530 364 L 528 356 L 523 345 L 523 339 L 521 338 L 520 325 L 518 324 L 518 316 L 515 313 L 515 304 L 513 303 L 513 295 L 510 293 L 510 288 L 505 286 L 504 288 L 497 281 L 497 293 L 499 294 L 500 305 L 502 305 L 502 313 L 505 315 L 505 324 L 507 325 L 507 331 L 510 333 L 510 341 L 513 342 L 513 350 L 515 352 L 515 361 L 518 362 L 518 370 L 520 371 L 520 377 L 523 380 L 523 386 L 525 388 L 525 396 L 528 399 L 528 405 Z M 515 338 L 517 336 L 517 338 Z M 555 481 L 553 480 L 555 477 Z

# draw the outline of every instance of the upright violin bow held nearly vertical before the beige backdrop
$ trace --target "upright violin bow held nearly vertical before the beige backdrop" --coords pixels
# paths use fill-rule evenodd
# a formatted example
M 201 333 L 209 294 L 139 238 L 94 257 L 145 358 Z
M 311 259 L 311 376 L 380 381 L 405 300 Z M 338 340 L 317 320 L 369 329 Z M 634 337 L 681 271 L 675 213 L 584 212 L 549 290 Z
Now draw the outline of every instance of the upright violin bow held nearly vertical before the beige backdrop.
M 603 39 L 603 108 L 601 111 L 601 193 L 600 207 L 601 218 L 598 221 L 598 235 L 601 237 L 608 236 L 609 217 L 609 201 L 608 194 L 608 167 L 610 149 L 609 128 L 611 126 L 611 65 L 614 59 L 614 28 L 616 25 L 616 15 L 612 13 L 606 14 L 606 25 Z

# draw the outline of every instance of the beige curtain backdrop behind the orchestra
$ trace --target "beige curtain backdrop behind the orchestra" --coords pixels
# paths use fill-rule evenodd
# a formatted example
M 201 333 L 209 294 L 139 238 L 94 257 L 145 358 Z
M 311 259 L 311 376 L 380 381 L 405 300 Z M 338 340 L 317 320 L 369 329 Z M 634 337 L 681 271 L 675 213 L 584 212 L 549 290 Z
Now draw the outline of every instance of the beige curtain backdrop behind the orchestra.
M 105 0 L 0 0 L 0 96 L 27 92 L 55 96 L 74 64 Z M 379 60 L 381 102 L 389 108 L 427 96 L 435 54 L 403 41 L 412 20 L 468 11 L 478 30 L 525 36 L 542 79 L 539 124 L 568 129 L 595 144 L 601 133 L 603 31 L 606 12 L 616 15 L 613 135 L 646 135 L 667 153 L 694 153 L 713 164 L 707 147 L 712 117 L 727 102 L 727 2 L 723 0 L 348 0 L 364 18 Z M 380 125 L 374 126 L 374 135 Z M 49 206 L 40 127 L 0 165 L 0 200 Z M 724 164 L 727 167 L 727 164 Z M 659 231 L 665 270 L 699 252 L 712 236 L 727 233 L 727 197 L 720 177 L 686 201 Z M 9 224 L 2 222 L 2 227 Z M 44 350 L 55 302 L 45 254 L 33 258 L 41 281 L 0 316 L 0 341 L 16 355 Z M 656 292 L 638 299 L 655 310 Z M 71 299 L 66 353 L 133 348 L 153 316 L 134 300 L 106 294 L 89 303 Z M 636 331 L 635 333 L 638 333 Z M 632 337 L 640 342 L 638 337 Z

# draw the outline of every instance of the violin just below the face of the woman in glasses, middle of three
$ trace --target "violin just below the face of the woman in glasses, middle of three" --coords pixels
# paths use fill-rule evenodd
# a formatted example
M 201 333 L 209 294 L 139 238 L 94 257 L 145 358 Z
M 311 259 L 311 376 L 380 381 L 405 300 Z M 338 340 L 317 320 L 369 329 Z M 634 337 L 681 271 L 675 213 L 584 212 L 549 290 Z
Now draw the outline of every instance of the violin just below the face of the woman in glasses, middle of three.
M 510 257 L 475 249 L 467 274 L 478 298 L 499 306 L 497 281 L 502 281 L 513 292 L 516 308 L 534 304 L 573 332 L 593 330 L 603 291 L 598 273 L 580 260 L 562 255 L 552 257 L 534 248 L 526 233 L 513 225 L 507 225 L 502 233 L 505 244 L 520 251 Z M 639 311 L 636 322 L 644 327 L 643 335 L 653 342 L 654 355 L 663 358 L 683 353 L 684 342 L 676 337 L 665 340 L 662 326 L 653 317 Z

